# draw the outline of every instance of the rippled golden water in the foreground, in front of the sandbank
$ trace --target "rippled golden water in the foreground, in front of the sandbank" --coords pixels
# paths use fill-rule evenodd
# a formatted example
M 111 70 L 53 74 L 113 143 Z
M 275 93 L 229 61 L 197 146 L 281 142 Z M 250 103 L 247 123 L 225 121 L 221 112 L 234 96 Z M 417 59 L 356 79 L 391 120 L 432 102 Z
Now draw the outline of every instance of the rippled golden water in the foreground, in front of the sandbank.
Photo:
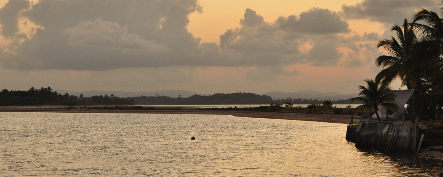
M 415 155 L 358 150 L 338 123 L 229 115 L 0 115 L 0 176 L 8 177 L 435 177 L 443 168 Z

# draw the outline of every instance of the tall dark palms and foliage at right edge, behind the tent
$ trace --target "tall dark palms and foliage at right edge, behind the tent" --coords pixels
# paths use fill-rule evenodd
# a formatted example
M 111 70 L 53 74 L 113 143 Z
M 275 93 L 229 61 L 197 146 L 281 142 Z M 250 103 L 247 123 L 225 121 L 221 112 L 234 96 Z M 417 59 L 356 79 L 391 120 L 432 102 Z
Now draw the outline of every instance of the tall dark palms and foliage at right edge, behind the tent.
M 407 89 L 415 89 L 407 108 L 412 123 L 415 117 L 443 116 L 443 18 L 439 16 L 443 16 L 443 0 L 440 3 L 440 13 L 419 8 L 412 22 L 405 19 L 402 25 L 392 26 L 396 36 L 378 42 L 389 55 L 376 59 L 384 69 L 375 81 L 388 86 L 400 79 Z

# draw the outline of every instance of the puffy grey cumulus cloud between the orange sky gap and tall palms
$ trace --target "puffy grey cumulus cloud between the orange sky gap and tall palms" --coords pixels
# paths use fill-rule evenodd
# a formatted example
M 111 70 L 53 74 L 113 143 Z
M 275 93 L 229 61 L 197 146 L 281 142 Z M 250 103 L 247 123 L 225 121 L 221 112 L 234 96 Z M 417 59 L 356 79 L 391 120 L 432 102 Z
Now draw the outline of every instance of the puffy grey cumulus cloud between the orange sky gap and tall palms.
M 255 14 L 246 10 L 245 19 L 248 13 Z M 359 64 L 367 63 L 361 53 L 372 54 L 377 53 L 377 50 L 366 48 L 364 44 L 375 47 L 374 39 L 380 39 L 380 35 L 370 33 L 364 36 L 343 37 L 343 34 L 349 32 L 348 23 L 336 12 L 311 8 L 307 12 L 300 13 L 299 16 L 281 16 L 274 23 L 243 25 L 236 29 L 229 29 L 220 35 L 220 47 L 223 51 L 247 54 L 242 61 L 253 58 L 255 65 L 260 66 L 259 70 L 263 69 L 263 66 L 288 63 L 313 66 L 344 64 L 348 67 L 356 66 L 356 64 L 348 64 L 351 61 Z M 307 42 L 311 47 L 306 52 L 302 52 L 300 49 Z M 346 48 L 352 52 L 339 51 L 340 48 Z M 355 54 L 351 56 L 351 53 Z M 269 73 L 269 71 L 251 70 L 247 76 L 252 79 L 255 78 L 253 76 L 260 75 L 259 73 Z M 265 80 L 275 79 L 272 75 L 264 75 L 266 76 L 262 77 L 263 79 L 268 78 Z

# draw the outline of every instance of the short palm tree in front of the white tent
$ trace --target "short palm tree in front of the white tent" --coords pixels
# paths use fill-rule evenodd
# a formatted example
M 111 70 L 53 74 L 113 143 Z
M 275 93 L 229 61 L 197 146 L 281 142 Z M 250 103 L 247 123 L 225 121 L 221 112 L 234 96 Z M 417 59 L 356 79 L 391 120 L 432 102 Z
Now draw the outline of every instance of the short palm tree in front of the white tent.
M 396 95 L 392 93 L 391 89 L 387 85 L 383 85 L 380 81 L 374 81 L 372 79 L 367 79 L 365 82 L 368 84 L 367 87 L 358 86 L 360 89 L 360 93 L 358 96 L 351 98 L 351 101 L 354 102 L 358 100 L 363 103 L 363 105 L 359 107 L 364 108 L 373 108 L 375 110 L 375 115 L 377 115 L 377 119 L 380 122 L 380 115 L 378 115 L 378 106 L 382 106 L 386 109 L 397 110 L 398 107 L 394 103 Z M 370 114 L 370 113 L 369 113 Z

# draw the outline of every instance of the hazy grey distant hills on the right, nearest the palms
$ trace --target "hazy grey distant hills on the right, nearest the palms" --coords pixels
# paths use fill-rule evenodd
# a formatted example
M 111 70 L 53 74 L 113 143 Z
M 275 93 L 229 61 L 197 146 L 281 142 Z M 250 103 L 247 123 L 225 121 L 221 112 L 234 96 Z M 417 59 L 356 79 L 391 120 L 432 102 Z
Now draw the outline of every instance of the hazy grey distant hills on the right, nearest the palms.
M 352 97 L 357 97 L 357 93 L 353 94 L 339 94 L 337 92 L 319 92 L 315 90 L 299 90 L 297 92 L 278 92 L 278 91 L 272 91 L 272 92 L 266 92 L 260 95 L 268 95 L 275 99 L 286 99 L 286 98 L 294 98 L 294 99 L 319 99 L 319 100 L 347 100 Z

